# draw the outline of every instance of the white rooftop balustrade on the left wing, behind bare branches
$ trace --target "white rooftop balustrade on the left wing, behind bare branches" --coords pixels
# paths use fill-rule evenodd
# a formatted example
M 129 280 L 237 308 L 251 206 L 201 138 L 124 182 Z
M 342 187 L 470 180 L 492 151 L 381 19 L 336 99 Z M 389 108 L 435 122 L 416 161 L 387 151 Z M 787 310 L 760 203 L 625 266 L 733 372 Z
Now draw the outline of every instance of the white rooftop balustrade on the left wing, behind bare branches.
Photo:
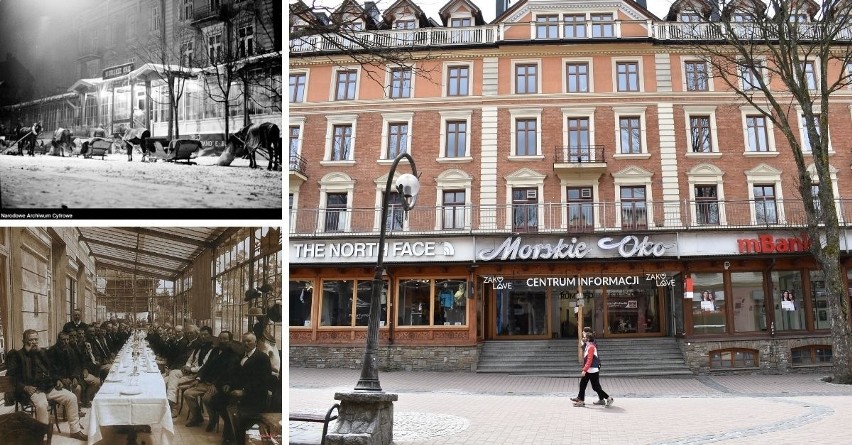
M 370 48 L 428 48 L 493 44 L 496 26 L 422 28 L 364 31 L 350 34 L 316 34 L 290 40 L 290 53 L 357 51 Z

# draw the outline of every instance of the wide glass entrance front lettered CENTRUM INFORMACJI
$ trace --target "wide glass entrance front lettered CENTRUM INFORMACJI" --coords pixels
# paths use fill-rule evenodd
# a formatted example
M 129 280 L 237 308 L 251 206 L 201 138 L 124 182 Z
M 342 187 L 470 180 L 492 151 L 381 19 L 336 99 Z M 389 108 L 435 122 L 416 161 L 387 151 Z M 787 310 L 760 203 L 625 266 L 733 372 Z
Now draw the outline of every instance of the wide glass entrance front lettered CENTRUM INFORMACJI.
M 664 336 L 673 275 L 482 277 L 486 338 L 576 339 L 580 326 L 602 338 Z

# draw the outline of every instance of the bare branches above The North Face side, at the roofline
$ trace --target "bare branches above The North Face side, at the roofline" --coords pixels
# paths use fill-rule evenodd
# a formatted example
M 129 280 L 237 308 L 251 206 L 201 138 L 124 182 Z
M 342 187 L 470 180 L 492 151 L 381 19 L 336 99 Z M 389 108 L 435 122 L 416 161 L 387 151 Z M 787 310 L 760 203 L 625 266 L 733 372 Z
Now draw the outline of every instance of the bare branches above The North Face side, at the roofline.
M 424 29 L 437 23 L 420 14 L 423 28 L 390 30 L 391 24 L 378 10 L 379 3 L 365 2 L 361 6 L 357 1 L 343 0 L 337 7 L 316 0 L 290 3 L 290 56 L 306 51 L 332 61 L 339 61 L 342 56 L 347 63 L 364 68 L 364 73 L 380 85 L 384 84 L 388 66 L 411 69 L 414 75 L 431 81 L 433 70 L 417 61 L 433 58 L 430 36 Z

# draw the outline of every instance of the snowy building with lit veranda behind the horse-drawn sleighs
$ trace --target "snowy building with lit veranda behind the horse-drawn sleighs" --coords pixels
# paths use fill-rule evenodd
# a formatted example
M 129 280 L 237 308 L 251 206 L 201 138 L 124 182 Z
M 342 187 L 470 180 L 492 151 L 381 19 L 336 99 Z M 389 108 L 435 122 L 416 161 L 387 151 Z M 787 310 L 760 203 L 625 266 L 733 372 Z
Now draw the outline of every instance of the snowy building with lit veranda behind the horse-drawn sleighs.
M 223 145 L 248 122 L 279 122 L 281 4 L 272 0 L 115 0 L 80 10 L 67 93 L 2 110 L 11 128 L 41 120 L 79 135 L 104 128 L 148 128 L 169 135 L 169 116 L 184 138 Z M 178 109 L 167 87 L 176 81 Z M 226 105 L 227 100 L 227 105 Z

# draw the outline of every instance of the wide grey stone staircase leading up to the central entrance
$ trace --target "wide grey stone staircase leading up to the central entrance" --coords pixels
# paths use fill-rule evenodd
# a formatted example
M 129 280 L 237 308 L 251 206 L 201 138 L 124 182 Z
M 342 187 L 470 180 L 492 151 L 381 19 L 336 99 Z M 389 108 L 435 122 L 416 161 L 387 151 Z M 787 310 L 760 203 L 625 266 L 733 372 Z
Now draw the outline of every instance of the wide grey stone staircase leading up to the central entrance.
M 692 376 L 672 337 L 597 340 L 606 377 Z M 486 341 L 476 372 L 552 377 L 580 375 L 577 340 Z

